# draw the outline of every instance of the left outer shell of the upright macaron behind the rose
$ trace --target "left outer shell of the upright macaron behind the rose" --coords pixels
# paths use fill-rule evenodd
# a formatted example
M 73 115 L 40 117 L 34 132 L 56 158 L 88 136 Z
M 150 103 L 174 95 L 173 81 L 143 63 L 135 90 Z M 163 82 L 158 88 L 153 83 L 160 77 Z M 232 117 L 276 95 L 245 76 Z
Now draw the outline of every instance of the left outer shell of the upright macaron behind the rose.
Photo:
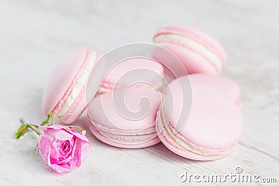
M 48 114 L 48 109 L 54 109 L 58 102 L 67 99 L 67 95 L 64 94 L 73 83 L 73 78 L 82 66 L 87 52 L 89 52 L 88 47 L 74 49 L 52 73 L 50 82 L 43 94 L 43 112 L 45 115 Z

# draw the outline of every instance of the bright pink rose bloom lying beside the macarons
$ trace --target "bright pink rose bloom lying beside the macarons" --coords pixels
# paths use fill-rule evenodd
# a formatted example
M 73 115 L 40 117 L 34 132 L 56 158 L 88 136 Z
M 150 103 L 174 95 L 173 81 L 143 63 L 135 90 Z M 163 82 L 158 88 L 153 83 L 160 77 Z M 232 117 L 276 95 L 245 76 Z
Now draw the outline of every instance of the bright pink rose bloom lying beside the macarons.
M 71 171 L 85 160 L 91 144 L 85 130 L 76 132 L 63 125 L 39 126 L 38 148 L 43 160 L 57 173 Z

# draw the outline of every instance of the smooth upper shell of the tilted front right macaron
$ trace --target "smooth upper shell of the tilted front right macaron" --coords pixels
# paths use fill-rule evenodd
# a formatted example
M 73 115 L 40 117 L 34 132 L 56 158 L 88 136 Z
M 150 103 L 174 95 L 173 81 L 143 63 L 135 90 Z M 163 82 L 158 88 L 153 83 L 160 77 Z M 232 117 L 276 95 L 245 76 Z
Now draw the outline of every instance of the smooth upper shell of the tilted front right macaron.
M 174 95 L 180 91 L 175 84 L 171 84 Z M 220 149 L 232 146 L 241 134 L 241 113 L 232 98 L 215 86 L 197 82 L 192 84 L 192 110 L 184 127 L 179 123 L 181 116 L 181 102 L 179 96 L 174 96 L 174 108 L 169 108 L 165 101 L 165 114 L 179 134 L 193 141 L 197 146 Z M 173 110 L 172 110 L 173 109 Z M 185 121 L 185 120 L 184 120 Z

